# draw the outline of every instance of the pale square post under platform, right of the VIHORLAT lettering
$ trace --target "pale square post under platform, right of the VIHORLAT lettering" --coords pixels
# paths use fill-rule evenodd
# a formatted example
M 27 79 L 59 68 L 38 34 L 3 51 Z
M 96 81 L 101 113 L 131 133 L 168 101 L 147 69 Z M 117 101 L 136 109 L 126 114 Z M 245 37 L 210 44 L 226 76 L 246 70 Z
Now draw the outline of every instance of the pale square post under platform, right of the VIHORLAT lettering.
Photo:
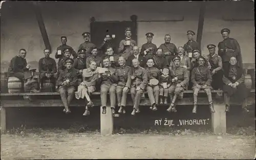
M 226 133 L 226 112 L 223 103 L 214 104 L 215 112 L 211 113 L 211 129 L 214 133 Z

